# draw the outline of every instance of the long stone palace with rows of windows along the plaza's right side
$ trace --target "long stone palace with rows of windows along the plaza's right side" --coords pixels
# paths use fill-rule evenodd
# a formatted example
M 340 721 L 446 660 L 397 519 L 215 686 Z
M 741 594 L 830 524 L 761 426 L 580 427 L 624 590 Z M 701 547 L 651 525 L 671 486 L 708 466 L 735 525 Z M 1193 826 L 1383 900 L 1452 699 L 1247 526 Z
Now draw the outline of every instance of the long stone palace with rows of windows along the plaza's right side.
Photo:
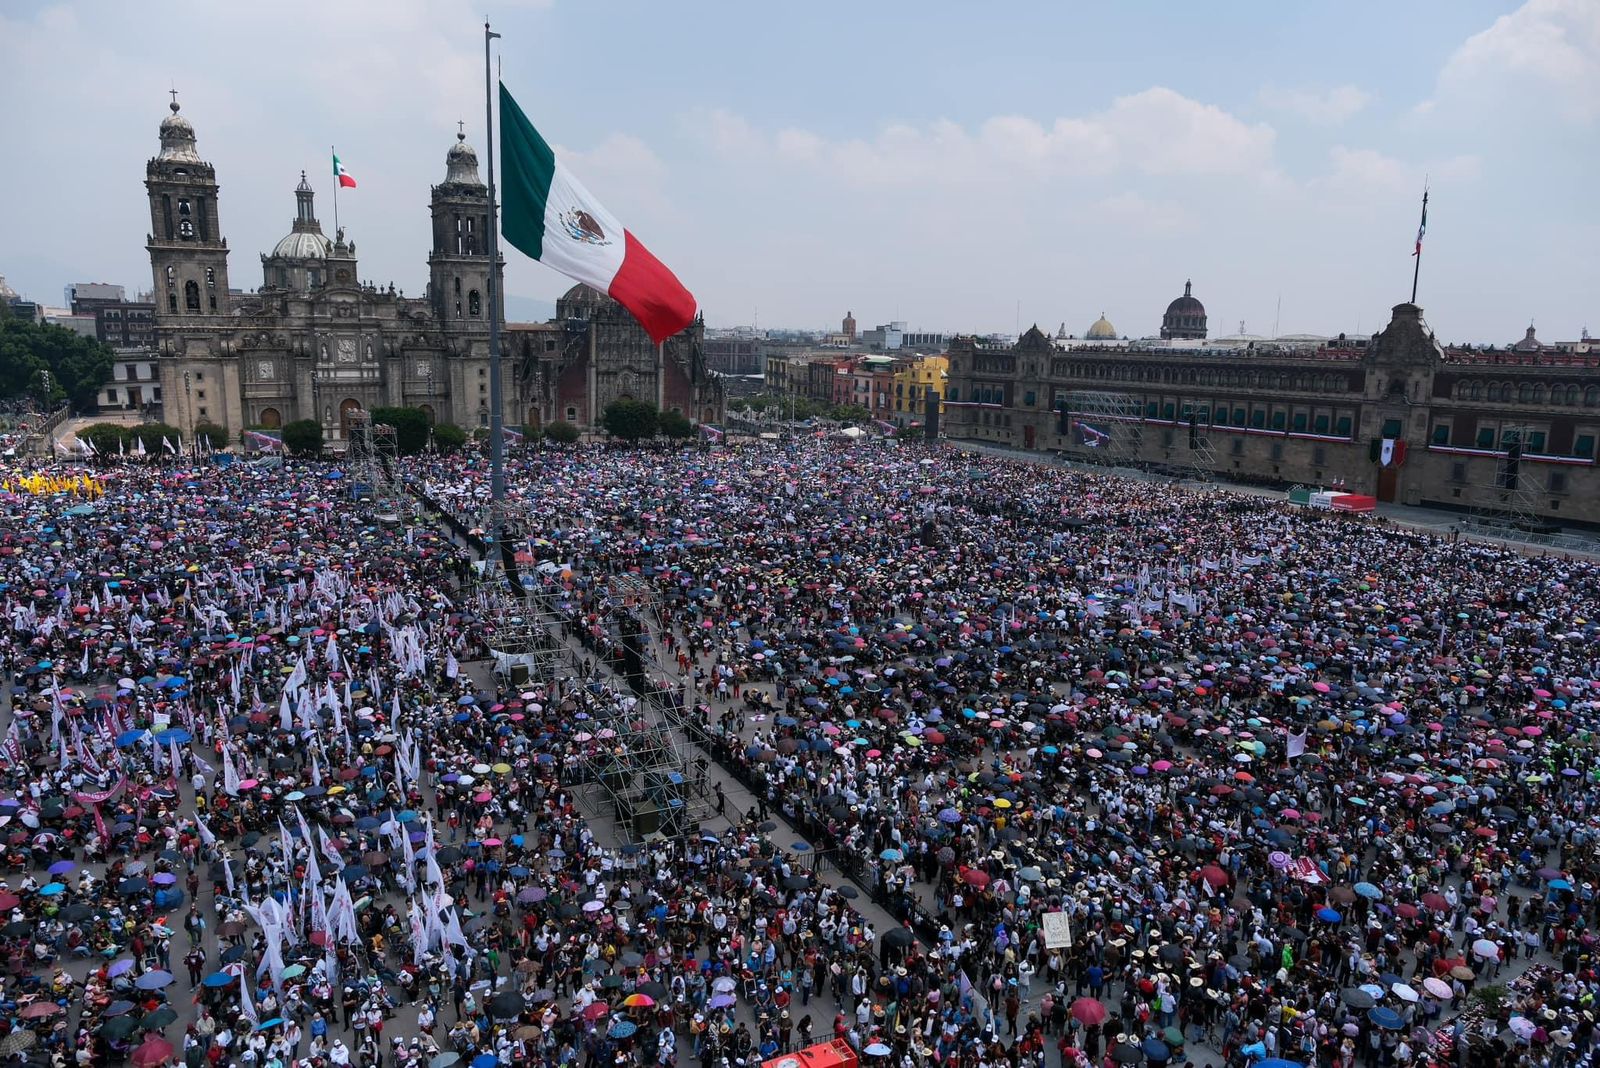
M 1181 349 L 1037 326 L 949 349 L 950 438 L 1549 524 L 1600 524 L 1600 344 L 1442 345 L 1414 304 L 1371 337 Z M 1163 339 L 1203 339 L 1186 288 Z M 1098 341 L 1096 341 L 1098 339 Z

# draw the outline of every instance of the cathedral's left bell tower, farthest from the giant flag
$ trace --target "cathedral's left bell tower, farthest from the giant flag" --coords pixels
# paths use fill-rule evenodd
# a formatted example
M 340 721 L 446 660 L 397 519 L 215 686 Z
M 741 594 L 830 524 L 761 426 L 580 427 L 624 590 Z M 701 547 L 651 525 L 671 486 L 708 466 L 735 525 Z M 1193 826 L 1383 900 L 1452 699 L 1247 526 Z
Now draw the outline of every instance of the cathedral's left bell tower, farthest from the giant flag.
M 216 171 L 195 150 L 195 130 L 178 114 L 162 120 L 162 150 L 144 168 L 150 197 L 150 272 L 155 318 L 168 326 L 227 315 L 227 241 L 216 208 Z

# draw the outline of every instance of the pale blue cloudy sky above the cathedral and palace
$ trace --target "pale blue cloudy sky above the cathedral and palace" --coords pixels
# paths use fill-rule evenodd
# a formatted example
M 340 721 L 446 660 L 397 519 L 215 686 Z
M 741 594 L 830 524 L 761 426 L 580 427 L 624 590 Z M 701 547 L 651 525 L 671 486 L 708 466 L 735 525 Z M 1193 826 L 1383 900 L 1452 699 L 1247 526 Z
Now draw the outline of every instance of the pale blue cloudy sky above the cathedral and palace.
M 144 161 L 179 90 L 235 286 L 328 147 L 362 273 L 427 280 L 456 120 L 504 78 L 714 326 L 1146 334 L 1192 277 L 1213 334 L 1600 333 L 1600 3 L 771 5 L 120 0 L 0 6 L 0 273 L 149 286 Z M 510 254 L 507 293 L 566 283 Z M 1280 310 L 1282 307 L 1282 310 Z

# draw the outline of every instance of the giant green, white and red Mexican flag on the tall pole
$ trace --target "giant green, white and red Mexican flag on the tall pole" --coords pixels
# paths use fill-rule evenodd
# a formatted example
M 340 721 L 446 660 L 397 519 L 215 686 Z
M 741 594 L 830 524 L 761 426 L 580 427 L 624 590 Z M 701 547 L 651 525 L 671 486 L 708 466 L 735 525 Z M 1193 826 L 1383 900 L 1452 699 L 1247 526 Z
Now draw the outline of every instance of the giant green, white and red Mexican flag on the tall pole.
M 501 85 L 501 233 L 568 278 L 611 294 L 661 342 L 694 320 L 694 296 L 562 166 Z

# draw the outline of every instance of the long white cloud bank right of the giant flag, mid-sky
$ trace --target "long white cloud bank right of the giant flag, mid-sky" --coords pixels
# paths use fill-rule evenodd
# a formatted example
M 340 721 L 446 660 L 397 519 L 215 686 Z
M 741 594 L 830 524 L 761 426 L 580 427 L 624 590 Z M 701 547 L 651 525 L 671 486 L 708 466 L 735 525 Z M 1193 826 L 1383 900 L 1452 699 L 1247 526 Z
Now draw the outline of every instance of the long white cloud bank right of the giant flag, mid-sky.
M 728 110 L 696 120 L 702 137 L 736 158 L 778 157 L 854 185 L 990 182 L 1029 177 L 1138 174 L 1250 174 L 1272 161 L 1274 131 L 1213 104 L 1155 86 L 1118 98 L 1088 117 L 1040 123 L 995 115 L 976 128 L 949 120 L 896 123 L 872 137 L 827 139 L 808 130 L 763 134 Z

